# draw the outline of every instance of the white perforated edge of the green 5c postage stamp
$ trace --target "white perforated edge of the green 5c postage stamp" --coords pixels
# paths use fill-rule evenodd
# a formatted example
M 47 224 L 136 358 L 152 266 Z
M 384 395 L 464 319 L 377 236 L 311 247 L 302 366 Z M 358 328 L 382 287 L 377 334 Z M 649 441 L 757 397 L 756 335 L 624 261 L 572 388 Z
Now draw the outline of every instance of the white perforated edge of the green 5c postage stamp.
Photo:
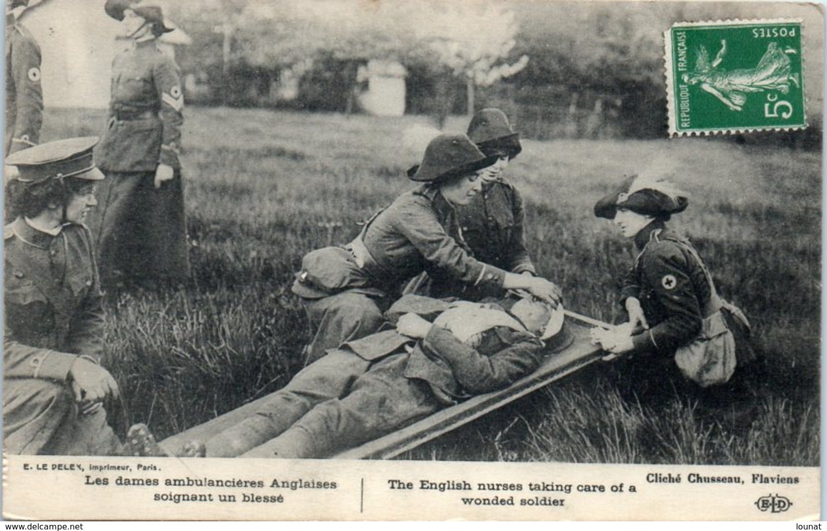
M 757 19 L 743 19 L 743 18 L 728 18 L 725 20 L 714 21 L 697 21 L 697 22 L 674 22 L 669 26 L 667 31 L 663 32 L 663 63 L 665 65 L 664 74 L 667 81 L 667 119 L 669 124 L 669 138 L 680 138 L 684 136 L 723 136 L 729 134 L 740 134 L 748 132 L 764 132 L 764 131 L 800 131 L 805 129 L 809 124 L 807 122 L 807 91 L 806 86 L 801 95 L 804 100 L 804 125 L 794 127 L 746 127 L 746 128 L 720 128 L 708 129 L 703 131 L 678 131 L 675 123 L 675 85 L 672 83 L 674 72 L 672 70 L 672 31 L 676 28 L 692 27 L 692 26 L 740 26 L 746 24 L 788 24 L 795 22 L 801 25 L 801 84 L 805 84 L 805 41 L 804 41 L 804 19 L 802 18 L 757 18 Z

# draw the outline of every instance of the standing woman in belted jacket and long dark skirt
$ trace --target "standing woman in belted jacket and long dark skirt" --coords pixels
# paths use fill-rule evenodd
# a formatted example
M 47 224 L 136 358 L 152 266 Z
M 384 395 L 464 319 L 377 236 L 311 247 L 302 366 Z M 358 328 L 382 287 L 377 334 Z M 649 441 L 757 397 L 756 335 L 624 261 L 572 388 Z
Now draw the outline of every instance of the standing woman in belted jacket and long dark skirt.
M 90 225 L 104 285 L 183 282 L 189 277 L 179 148 L 184 96 L 178 65 L 156 39 L 166 26 L 160 7 L 108 0 L 130 50 L 112 63 L 112 102 L 96 162 L 108 179 Z

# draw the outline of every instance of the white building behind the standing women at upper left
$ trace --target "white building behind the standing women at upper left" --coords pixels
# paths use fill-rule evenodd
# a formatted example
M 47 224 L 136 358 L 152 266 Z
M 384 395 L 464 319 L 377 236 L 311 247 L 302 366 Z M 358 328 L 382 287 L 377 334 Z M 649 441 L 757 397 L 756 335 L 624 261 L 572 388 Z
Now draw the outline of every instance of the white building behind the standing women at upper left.
M 119 23 L 103 11 L 104 0 L 50 0 L 24 13 L 20 22 L 41 45 L 41 84 L 46 107 L 106 108 L 112 59 L 124 46 Z M 32 2 L 34 4 L 34 2 Z M 176 29 L 162 49 L 191 41 Z

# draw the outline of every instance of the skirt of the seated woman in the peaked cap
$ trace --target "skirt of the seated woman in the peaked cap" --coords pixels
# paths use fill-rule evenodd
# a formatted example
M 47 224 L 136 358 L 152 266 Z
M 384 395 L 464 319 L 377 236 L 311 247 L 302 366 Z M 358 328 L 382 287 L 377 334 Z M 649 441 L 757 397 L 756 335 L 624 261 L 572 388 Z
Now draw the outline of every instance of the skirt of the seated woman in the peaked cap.
M 47 380 L 7 378 L 2 389 L 3 447 L 11 454 L 112 456 L 121 441 L 106 410 L 79 414 L 71 390 Z

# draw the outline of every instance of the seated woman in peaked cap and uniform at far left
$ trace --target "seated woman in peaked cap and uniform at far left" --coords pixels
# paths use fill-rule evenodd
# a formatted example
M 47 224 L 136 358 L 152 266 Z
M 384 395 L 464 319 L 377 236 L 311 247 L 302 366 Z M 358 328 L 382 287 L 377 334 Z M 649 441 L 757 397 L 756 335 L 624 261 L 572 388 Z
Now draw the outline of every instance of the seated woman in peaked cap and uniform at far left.
M 96 137 L 53 141 L 7 160 L 14 222 L 5 230 L 3 447 L 13 454 L 130 455 L 103 401 L 117 383 L 98 365 L 103 309 L 92 237 L 83 221 L 103 174 Z M 146 426 L 133 426 L 140 446 Z M 139 442 L 139 439 L 141 441 Z

